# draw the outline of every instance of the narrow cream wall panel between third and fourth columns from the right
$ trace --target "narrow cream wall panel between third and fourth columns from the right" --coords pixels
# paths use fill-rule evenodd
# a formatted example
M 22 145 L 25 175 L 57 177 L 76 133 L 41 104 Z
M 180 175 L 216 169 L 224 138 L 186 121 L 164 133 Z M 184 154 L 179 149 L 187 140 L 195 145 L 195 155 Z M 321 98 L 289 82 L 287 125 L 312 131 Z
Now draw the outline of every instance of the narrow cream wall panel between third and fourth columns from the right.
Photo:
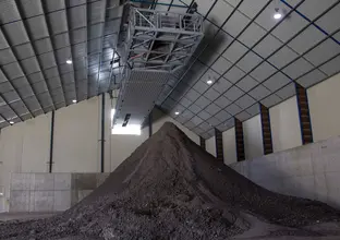
M 235 129 L 229 129 L 222 133 L 224 164 L 230 165 L 238 161 Z

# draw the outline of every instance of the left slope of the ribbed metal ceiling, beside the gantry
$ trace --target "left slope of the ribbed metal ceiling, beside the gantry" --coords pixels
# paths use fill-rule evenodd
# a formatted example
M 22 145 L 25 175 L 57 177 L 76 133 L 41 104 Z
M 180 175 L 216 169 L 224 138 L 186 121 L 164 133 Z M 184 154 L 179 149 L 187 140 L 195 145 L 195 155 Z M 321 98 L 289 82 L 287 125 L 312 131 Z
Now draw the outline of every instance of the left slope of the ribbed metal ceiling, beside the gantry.
M 117 7 L 119 0 L 0 1 L 0 128 L 114 87 Z

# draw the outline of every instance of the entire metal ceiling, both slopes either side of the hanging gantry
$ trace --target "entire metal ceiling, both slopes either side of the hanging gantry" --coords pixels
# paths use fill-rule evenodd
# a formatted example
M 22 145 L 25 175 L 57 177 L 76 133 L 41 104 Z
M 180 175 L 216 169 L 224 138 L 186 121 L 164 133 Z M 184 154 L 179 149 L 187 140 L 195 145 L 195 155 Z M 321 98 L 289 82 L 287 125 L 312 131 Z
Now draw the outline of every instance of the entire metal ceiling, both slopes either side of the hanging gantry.
M 149 1 L 148 1 L 149 2 Z M 158 0 L 186 12 L 192 0 Z M 196 0 L 205 39 L 157 101 L 209 137 L 340 70 L 339 0 Z M 161 3 L 161 4 L 160 4 Z M 118 0 L 0 1 L 0 128 L 107 92 Z M 275 9 L 283 13 L 274 20 Z M 72 58 L 73 64 L 65 61 Z M 207 80 L 214 80 L 207 85 Z M 174 112 L 181 115 L 175 116 Z

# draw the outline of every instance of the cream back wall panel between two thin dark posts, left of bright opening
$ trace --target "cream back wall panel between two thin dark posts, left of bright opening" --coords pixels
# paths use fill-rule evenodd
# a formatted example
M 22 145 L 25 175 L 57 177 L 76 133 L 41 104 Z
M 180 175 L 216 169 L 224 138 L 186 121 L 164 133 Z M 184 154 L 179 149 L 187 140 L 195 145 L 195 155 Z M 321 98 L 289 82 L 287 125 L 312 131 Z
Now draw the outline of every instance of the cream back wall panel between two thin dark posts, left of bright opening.
M 53 172 L 100 171 L 99 104 L 94 97 L 56 111 Z

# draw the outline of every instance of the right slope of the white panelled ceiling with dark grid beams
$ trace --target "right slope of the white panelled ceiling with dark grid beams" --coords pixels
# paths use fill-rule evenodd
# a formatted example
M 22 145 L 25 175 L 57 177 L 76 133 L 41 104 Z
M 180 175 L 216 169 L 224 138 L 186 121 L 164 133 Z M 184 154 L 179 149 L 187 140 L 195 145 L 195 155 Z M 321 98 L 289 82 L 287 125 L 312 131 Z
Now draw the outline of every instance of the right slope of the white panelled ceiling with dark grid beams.
M 158 2 L 168 5 L 156 9 L 185 12 L 179 5 L 192 0 Z M 295 95 L 295 83 L 311 87 L 340 71 L 339 0 L 196 2 L 205 39 L 157 104 L 205 139 L 233 127 L 232 117 L 257 115 L 258 103 L 271 107 Z

